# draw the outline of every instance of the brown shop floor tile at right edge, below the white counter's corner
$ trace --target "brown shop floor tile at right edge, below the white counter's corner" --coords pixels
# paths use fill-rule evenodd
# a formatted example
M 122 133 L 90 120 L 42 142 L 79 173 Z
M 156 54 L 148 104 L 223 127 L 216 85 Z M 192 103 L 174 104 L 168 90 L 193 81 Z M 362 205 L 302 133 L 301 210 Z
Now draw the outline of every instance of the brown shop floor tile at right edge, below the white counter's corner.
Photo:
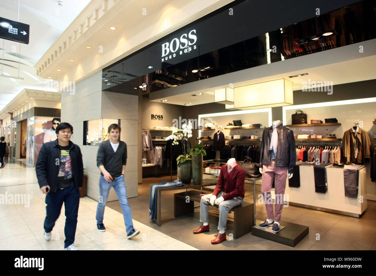
M 340 223 L 336 223 L 326 234 L 333 234 L 369 244 L 373 244 L 376 240 L 376 232 L 350 227 Z

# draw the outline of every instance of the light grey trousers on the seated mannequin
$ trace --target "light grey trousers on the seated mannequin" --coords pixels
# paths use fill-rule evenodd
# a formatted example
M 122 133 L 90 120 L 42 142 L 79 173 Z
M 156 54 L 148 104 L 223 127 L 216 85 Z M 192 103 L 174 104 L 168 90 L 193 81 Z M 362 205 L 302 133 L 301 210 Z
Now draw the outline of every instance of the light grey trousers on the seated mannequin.
M 218 193 L 217 198 L 220 198 L 223 195 L 223 192 Z M 203 196 L 200 202 L 200 222 L 209 222 L 209 205 L 210 205 L 210 198 L 212 194 Z M 227 217 L 229 215 L 229 211 L 241 204 L 243 204 L 244 199 L 240 196 L 224 200 L 219 204 L 219 222 L 218 222 L 218 230 L 226 230 L 226 223 Z

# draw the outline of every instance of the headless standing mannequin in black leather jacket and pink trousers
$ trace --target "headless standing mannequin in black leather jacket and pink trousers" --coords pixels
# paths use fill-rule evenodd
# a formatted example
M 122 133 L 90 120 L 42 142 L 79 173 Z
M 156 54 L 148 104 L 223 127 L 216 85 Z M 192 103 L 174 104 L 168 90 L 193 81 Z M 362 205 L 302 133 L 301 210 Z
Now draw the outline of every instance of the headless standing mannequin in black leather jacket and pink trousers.
M 271 199 L 270 191 L 275 176 L 275 215 L 273 216 L 273 203 L 268 203 L 270 202 L 269 199 L 264 203 L 267 220 L 260 224 L 260 228 L 267 228 L 273 225 L 273 232 L 279 231 L 287 171 L 288 178 L 292 178 L 295 162 L 296 150 L 293 131 L 284 127 L 281 121 L 273 121 L 272 126 L 265 128 L 262 133 L 259 170 L 262 173 L 261 192 L 266 199 Z

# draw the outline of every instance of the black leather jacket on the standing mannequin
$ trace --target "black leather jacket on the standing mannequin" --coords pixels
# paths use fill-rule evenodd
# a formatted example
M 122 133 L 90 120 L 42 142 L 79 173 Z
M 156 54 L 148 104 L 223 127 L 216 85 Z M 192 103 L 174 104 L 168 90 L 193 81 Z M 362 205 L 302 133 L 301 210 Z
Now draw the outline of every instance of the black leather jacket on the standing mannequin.
M 262 132 L 260 167 L 269 165 L 270 162 L 270 139 L 273 127 L 265 128 Z M 288 167 L 288 173 L 294 173 L 296 162 L 296 149 L 294 133 L 290 128 L 282 124 L 277 127 L 278 144 L 276 152 L 276 167 Z

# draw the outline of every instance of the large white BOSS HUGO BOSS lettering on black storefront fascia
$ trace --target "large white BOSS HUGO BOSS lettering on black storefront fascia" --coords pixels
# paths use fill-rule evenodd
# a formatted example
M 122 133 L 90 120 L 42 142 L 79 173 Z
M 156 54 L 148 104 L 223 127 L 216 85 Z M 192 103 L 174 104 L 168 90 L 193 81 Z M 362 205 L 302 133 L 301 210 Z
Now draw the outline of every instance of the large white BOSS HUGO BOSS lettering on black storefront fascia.
M 178 52 L 179 55 L 189 53 L 192 50 L 191 45 L 194 45 L 196 41 L 196 30 L 191 30 L 188 34 L 183 33 L 180 39 L 173 38 L 171 43 L 166 42 L 162 44 L 162 62 L 176 57 L 176 52 Z M 179 49 L 184 50 L 178 51 Z M 196 50 L 196 45 L 193 46 L 193 49 Z

